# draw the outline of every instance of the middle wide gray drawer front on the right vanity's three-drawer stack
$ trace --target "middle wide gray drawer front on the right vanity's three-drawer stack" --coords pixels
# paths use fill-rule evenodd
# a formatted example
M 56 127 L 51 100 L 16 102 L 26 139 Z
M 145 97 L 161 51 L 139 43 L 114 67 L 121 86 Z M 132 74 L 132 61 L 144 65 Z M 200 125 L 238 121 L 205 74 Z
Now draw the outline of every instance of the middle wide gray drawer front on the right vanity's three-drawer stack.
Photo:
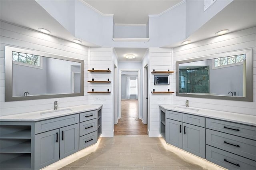
M 206 129 L 206 144 L 256 160 L 254 140 Z

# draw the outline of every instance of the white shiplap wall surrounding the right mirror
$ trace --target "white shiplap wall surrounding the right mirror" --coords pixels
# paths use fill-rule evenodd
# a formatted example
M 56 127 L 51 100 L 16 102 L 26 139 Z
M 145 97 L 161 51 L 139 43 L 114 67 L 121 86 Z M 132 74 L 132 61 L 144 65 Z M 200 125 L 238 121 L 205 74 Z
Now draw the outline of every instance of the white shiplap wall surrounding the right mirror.
M 253 49 L 253 102 L 174 96 L 173 104 L 185 105 L 188 99 L 190 107 L 256 115 L 256 27 L 174 48 L 173 55 L 174 61 L 178 61 L 242 49 Z M 172 78 L 175 87 L 175 77 Z

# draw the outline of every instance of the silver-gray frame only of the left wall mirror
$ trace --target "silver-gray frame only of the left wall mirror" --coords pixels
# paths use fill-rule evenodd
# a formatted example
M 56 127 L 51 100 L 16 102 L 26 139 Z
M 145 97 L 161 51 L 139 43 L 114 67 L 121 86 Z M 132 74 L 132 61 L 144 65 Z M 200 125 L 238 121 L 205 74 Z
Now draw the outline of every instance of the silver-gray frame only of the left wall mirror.
M 12 51 L 81 63 L 80 93 L 64 93 L 64 94 L 54 94 L 54 95 L 49 94 L 49 95 L 34 95 L 34 96 L 31 95 L 31 96 L 14 96 L 13 97 L 12 96 Z M 22 48 L 5 46 L 5 101 L 51 99 L 51 98 L 75 97 L 75 96 L 83 96 L 83 95 L 84 95 L 84 60 L 64 57 L 62 55 L 54 55 L 51 53 L 44 53 L 41 51 L 34 51 L 30 49 L 22 49 Z

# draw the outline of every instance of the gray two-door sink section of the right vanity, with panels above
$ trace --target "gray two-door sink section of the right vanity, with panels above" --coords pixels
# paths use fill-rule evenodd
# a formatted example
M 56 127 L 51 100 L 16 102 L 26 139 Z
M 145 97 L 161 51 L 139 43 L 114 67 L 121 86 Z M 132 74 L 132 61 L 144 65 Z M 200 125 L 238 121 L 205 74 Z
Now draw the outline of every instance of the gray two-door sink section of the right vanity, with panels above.
M 174 111 L 166 111 L 165 116 L 166 142 L 205 158 L 205 118 Z

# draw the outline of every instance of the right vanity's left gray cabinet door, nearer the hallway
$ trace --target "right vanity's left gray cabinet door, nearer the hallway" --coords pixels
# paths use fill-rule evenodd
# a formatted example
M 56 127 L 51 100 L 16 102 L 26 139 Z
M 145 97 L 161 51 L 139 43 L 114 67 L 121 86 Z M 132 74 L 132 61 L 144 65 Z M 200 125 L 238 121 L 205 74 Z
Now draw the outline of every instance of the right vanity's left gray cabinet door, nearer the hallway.
M 166 142 L 182 148 L 182 122 L 166 119 Z

